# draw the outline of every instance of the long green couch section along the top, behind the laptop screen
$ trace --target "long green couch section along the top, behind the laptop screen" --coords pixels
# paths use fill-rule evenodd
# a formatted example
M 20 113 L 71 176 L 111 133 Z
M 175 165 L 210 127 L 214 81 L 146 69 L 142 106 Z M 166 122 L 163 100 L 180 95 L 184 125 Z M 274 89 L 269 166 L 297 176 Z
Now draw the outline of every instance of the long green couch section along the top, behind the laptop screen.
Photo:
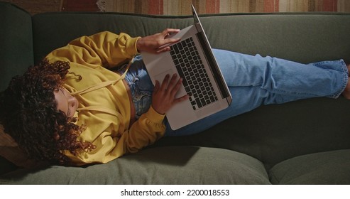
M 213 48 L 302 63 L 349 58 L 350 14 L 218 14 L 199 16 Z M 100 31 L 148 36 L 184 28 L 192 16 L 50 13 L 33 16 L 35 62 L 69 41 Z M 332 49 L 332 50 L 330 50 Z

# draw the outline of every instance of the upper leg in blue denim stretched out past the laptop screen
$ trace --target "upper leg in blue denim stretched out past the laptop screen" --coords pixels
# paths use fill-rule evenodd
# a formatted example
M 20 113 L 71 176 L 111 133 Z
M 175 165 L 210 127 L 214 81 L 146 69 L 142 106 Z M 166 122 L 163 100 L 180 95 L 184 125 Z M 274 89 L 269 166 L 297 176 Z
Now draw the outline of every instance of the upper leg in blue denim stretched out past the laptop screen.
M 276 102 L 266 101 L 266 104 L 308 97 L 337 98 L 348 79 L 343 60 L 305 65 L 226 50 L 214 50 L 214 53 L 229 87 L 259 86 L 271 95 L 283 95 L 280 96 L 283 99 L 275 99 Z

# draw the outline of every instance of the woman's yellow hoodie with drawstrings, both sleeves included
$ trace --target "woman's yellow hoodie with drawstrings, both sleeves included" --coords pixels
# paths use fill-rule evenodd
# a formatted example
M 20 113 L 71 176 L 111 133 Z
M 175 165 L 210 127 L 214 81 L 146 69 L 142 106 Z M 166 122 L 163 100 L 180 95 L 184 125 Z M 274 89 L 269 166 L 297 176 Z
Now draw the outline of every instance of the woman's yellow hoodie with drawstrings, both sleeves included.
M 124 76 L 108 69 L 136 55 L 137 40 L 125 33 L 116 35 L 106 31 L 77 38 L 47 55 L 51 63 L 70 62 L 71 73 L 64 87 L 80 102 L 75 113 L 77 125 L 87 127 L 78 139 L 96 146 L 77 156 L 65 151 L 73 163 L 106 163 L 153 144 L 163 136 L 165 116 L 152 107 L 128 129 L 131 104 L 121 81 Z M 82 80 L 73 72 L 81 75 Z

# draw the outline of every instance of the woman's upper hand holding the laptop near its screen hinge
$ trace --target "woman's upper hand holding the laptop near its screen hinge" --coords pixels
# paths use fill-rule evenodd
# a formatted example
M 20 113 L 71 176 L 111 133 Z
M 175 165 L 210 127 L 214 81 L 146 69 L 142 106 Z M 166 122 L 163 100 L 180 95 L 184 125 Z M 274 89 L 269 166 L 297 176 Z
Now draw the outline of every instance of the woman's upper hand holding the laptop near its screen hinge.
M 146 51 L 148 53 L 162 53 L 169 51 L 170 47 L 167 44 L 176 43 L 177 41 L 180 41 L 180 38 L 176 39 L 166 37 L 172 33 L 178 33 L 179 31 L 179 29 L 168 28 L 161 33 L 139 38 L 136 43 L 136 48 L 138 51 Z

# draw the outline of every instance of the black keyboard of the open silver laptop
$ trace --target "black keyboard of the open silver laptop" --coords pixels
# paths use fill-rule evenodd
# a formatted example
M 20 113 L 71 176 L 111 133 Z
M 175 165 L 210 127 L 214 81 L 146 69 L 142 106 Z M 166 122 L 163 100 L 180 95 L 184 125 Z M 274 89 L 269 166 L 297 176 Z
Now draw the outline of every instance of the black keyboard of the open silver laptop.
M 202 60 L 192 38 L 187 38 L 170 46 L 177 72 L 182 77 L 182 84 L 189 95 L 194 110 L 216 102 L 217 95 L 209 80 Z

